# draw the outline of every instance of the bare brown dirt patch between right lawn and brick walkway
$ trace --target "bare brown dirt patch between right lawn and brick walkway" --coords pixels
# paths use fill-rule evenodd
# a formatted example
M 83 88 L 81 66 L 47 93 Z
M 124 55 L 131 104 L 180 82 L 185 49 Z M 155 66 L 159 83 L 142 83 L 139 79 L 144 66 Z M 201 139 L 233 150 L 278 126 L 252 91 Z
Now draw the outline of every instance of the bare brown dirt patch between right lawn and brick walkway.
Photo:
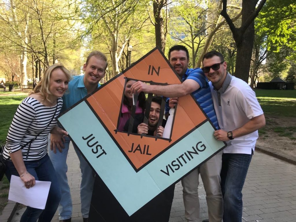
M 256 146 L 270 147 L 296 157 L 296 118 L 269 115 L 265 118 L 266 126 L 259 130 Z

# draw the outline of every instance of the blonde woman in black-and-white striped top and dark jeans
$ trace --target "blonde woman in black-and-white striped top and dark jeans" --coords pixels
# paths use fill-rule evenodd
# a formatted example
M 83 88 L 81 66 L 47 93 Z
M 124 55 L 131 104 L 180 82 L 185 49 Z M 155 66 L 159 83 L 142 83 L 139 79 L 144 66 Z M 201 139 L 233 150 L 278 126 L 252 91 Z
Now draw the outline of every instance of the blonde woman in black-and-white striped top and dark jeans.
M 20 176 L 29 189 L 35 181 L 50 181 L 44 210 L 27 207 L 22 221 L 51 221 L 61 198 L 59 182 L 47 155 L 48 134 L 67 132 L 56 127 L 56 117 L 62 108 L 62 96 L 68 89 L 71 74 L 55 64 L 44 72 L 44 78 L 26 97 L 15 113 L 9 128 L 3 157 L 7 159 L 6 176 Z

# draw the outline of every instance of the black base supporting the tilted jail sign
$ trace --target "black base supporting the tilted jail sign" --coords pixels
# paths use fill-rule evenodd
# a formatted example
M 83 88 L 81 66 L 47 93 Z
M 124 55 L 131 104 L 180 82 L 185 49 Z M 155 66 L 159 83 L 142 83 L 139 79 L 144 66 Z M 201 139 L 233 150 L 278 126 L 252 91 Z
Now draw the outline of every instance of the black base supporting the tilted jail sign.
M 128 216 L 119 202 L 96 175 L 88 222 L 168 222 L 175 184 L 154 197 L 136 213 Z

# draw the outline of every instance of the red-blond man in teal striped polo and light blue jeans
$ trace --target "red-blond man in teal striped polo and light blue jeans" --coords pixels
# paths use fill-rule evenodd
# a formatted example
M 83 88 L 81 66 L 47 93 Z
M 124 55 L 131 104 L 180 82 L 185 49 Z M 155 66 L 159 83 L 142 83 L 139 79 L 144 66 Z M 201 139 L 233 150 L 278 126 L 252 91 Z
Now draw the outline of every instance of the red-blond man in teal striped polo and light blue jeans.
M 65 93 L 63 96 L 62 111 L 67 110 L 95 89 L 99 88 L 101 86 L 99 81 L 104 77 L 106 68 L 106 56 L 99 51 L 91 52 L 86 59 L 86 63 L 83 65 L 84 75 L 74 76 L 69 82 L 69 92 Z M 70 222 L 72 217 L 72 200 L 66 175 L 66 158 L 69 150 L 69 143 L 69 138 L 64 138 L 62 135 L 51 134 L 49 157 L 56 170 L 62 192 L 62 199 L 58 207 L 60 222 Z M 59 152 L 57 152 L 57 149 Z M 89 217 L 89 208 L 94 186 L 94 174 L 89 164 L 84 160 L 83 156 L 75 146 L 74 149 L 80 161 L 81 214 L 83 222 L 86 222 Z

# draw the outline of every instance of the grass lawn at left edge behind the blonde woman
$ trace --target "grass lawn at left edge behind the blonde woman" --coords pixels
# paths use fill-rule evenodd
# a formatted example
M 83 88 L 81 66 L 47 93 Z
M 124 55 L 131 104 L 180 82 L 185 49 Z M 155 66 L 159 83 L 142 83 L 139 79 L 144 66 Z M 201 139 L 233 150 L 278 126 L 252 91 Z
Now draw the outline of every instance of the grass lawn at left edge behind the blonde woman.
M 15 115 L 15 111 L 26 96 L 28 96 L 28 94 L 21 96 L 1 96 L 0 94 L 0 144 L 5 143 L 7 132 L 12 122 L 12 118 Z

